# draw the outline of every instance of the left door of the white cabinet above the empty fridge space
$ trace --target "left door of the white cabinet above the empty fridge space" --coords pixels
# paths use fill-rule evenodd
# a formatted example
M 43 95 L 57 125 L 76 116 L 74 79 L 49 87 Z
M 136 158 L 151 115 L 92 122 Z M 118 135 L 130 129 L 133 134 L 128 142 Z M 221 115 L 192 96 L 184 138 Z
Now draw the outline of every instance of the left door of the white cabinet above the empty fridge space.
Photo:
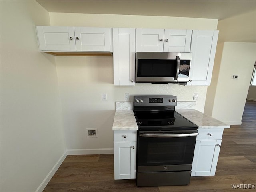
M 76 51 L 74 27 L 36 26 L 40 51 Z

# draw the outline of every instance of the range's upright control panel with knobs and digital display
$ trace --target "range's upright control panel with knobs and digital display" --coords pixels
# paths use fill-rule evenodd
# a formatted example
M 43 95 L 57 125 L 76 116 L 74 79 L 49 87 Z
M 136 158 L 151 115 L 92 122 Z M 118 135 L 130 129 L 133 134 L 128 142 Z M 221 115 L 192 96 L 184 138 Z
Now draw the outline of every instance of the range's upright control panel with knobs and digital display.
M 134 106 L 175 106 L 176 96 L 134 96 Z

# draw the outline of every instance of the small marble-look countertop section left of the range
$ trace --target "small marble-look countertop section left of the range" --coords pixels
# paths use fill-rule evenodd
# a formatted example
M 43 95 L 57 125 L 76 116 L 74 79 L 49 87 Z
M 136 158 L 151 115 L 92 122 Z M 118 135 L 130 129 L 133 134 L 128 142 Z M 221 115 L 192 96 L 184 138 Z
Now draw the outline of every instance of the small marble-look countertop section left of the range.
M 116 110 L 112 130 L 138 130 L 133 110 Z

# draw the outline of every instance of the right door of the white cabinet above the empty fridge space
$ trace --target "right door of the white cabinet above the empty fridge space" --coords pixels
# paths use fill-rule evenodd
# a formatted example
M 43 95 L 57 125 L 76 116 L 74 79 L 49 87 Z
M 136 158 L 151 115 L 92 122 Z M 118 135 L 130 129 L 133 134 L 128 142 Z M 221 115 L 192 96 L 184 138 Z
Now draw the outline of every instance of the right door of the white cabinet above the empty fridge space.
M 99 27 L 75 27 L 76 50 L 111 52 L 111 30 Z

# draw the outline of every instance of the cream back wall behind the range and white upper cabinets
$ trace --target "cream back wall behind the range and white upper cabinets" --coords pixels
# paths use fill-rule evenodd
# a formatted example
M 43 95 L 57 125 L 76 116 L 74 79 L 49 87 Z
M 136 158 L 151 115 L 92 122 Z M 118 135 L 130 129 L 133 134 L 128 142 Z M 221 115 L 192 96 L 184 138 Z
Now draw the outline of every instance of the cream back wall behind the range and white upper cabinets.
M 133 28 L 191 28 L 216 30 L 217 20 L 160 16 L 50 13 L 52 26 L 103 26 Z M 176 95 L 178 101 L 199 98 L 196 109 L 204 110 L 207 86 L 176 84 L 136 84 L 114 86 L 113 58 L 90 56 L 56 56 L 64 129 L 70 154 L 112 152 L 115 101 L 124 94 Z M 107 94 L 107 101 L 101 100 Z M 97 128 L 98 138 L 86 138 L 86 128 Z

